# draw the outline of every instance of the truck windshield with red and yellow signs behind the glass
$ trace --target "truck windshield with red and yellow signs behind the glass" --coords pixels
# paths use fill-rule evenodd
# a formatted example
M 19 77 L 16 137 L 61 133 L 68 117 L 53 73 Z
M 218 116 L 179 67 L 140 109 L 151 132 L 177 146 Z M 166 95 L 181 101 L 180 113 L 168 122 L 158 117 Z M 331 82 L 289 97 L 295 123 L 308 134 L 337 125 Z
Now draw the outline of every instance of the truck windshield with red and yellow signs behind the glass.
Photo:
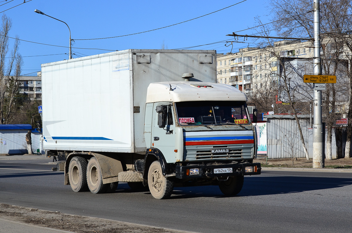
M 245 101 L 177 102 L 180 125 L 250 124 Z

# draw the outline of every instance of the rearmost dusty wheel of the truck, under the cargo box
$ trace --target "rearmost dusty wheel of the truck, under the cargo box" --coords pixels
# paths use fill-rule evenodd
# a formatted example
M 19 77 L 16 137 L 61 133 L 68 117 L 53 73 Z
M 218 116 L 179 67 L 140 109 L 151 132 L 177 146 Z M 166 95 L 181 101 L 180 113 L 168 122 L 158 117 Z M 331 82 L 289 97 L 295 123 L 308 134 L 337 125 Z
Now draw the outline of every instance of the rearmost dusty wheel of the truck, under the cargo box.
M 68 168 L 68 178 L 71 189 L 75 192 L 87 191 L 87 159 L 75 156 Z

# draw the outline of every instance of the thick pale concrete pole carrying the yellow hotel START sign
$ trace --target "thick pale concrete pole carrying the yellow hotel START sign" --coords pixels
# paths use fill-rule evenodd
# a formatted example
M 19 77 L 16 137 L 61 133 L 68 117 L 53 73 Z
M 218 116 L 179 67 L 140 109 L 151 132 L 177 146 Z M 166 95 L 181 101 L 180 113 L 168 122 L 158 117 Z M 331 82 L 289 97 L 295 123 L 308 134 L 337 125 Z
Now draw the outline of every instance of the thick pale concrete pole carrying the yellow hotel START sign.
M 314 59 L 313 74 L 321 75 L 320 57 L 320 2 L 313 0 L 314 10 Z M 321 90 L 313 90 L 313 168 L 323 168 L 323 124 L 321 113 Z

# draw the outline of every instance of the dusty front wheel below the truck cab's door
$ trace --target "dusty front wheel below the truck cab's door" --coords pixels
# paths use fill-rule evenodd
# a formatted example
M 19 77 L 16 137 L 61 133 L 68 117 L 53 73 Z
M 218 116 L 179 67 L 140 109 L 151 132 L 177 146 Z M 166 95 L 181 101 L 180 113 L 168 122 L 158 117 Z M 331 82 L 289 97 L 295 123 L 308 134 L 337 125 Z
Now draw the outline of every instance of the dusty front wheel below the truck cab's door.
M 149 167 L 148 186 L 155 199 L 165 199 L 171 196 L 174 182 L 165 178 L 159 161 L 154 161 Z

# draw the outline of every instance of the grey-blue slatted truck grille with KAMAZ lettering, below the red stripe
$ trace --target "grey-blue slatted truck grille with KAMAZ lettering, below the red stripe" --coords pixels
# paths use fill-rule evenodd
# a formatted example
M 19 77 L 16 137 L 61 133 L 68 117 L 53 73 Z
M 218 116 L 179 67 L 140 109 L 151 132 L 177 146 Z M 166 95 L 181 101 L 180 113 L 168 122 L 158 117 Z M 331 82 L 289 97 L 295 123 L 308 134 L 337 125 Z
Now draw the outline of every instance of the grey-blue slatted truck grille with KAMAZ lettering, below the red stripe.
M 250 159 L 253 155 L 253 147 L 253 144 L 185 146 L 184 161 Z M 216 152 L 212 153 L 212 150 Z

